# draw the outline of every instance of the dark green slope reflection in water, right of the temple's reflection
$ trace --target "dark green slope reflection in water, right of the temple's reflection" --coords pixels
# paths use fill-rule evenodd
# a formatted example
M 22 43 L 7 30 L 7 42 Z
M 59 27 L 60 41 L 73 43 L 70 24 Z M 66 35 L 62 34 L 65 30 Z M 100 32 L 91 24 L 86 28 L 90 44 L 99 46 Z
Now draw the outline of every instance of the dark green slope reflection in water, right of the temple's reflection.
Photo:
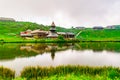
M 93 51 L 111 51 L 120 52 L 119 42 L 83 42 L 75 44 L 76 50 L 93 50 Z

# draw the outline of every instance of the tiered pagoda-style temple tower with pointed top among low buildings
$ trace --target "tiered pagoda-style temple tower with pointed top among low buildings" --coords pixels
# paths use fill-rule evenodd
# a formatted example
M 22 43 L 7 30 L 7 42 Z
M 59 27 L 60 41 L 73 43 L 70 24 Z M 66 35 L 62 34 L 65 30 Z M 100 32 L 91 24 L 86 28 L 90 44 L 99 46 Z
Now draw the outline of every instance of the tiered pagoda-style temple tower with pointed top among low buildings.
M 51 26 L 50 26 L 50 30 L 49 30 L 49 34 L 47 35 L 48 38 L 57 38 L 58 34 L 56 32 L 56 26 L 55 23 L 52 22 Z

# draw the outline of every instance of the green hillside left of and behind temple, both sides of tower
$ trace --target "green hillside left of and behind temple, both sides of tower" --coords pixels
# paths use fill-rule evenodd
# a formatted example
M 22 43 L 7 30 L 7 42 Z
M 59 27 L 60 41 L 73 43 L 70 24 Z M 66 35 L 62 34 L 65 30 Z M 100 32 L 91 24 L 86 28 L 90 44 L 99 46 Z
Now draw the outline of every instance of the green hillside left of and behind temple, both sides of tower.
M 20 39 L 20 32 L 26 30 L 41 29 L 48 31 L 50 26 L 39 25 L 32 22 L 11 22 L 11 21 L 0 21 L 0 40 L 14 40 Z M 62 27 L 56 27 L 57 32 L 74 32 L 72 29 L 66 29 Z

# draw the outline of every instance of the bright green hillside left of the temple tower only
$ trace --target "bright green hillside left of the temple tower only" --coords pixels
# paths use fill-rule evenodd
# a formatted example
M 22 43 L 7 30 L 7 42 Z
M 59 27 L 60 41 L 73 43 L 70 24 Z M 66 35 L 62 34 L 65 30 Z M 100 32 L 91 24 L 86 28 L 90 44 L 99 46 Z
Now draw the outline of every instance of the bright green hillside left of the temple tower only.
M 43 25 L 38 25 L 31 22 L 3 22 L 0 21 L 0 39 L 14 39 L 20 38 L 19 34 L 21 31 L 27 29 L 44 29 Z M 47 29 L 47 28 L 45 28 Z

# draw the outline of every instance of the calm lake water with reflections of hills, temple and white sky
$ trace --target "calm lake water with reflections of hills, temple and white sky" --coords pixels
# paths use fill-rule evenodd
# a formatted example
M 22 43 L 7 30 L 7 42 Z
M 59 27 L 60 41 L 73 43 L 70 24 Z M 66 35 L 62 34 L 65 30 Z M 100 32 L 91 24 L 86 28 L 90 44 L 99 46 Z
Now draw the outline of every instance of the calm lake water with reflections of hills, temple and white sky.
M 0 44 L 0 66 L 20 74 L 26 66 L 120 66 L 119 42 Z

